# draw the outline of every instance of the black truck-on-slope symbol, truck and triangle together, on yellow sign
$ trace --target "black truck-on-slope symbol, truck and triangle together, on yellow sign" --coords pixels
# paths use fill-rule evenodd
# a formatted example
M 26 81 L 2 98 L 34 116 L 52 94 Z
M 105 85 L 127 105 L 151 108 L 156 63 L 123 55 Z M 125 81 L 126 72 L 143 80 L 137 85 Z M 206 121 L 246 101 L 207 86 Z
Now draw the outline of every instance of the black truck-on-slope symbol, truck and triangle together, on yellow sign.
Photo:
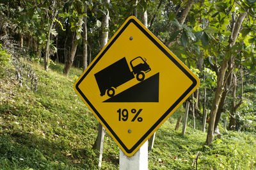
M 126 58 L 122 58 L 95 73 L 100 96 L 107 93 L 111 97 L 104 102 L 158 102 L 159 73 L 145 80 L 145 73 L 151 70 L 146 61 L 147 59 L 140 56 L 132 59 L 130 61 L 131 71 Z M 115 89 L 134 79 L 134 75 L 139 83 L 115 96 Z

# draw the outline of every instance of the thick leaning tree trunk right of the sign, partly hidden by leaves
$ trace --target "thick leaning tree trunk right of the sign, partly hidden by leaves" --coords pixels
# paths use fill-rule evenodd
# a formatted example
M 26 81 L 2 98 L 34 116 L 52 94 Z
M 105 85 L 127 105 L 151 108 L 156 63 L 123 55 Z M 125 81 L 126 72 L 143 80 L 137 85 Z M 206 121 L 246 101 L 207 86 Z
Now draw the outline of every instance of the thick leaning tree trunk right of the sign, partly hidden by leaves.
M 241 24 L 243 23 L 245 16 L 246 16 L 246 13 L 241 13 L 237 17 L 236 24 L 235 24 L 234 30 L 232 32 L 232 36 L 230 37 L 229 49 L 236 42 L 237 35 L 239 33 Z M 222 94 L 223 88 L 224 88 L 223 84 L 224 84 L 225 72 L 227 70 L 227 66 L 228 66 L 228 59 L 226 57 L 224 57 L 224 59 L 221 63 L 220 73 L 219 73 L 218 79 L 217 79 L 217 88 L 215 91 L 214 100 L 212 102 L 212 107 L 211 107 L 211 112 L 210 112 L 210 121 L 209 121 L 209 127 L 208 127 L 208 132 L 207 132 L 207 139 L 206 139 L 207 144 L 212 144 L 212 142 L 213 142 L 214 123 L 215 123 L 218 107 L 220 104 L 221 94 Z

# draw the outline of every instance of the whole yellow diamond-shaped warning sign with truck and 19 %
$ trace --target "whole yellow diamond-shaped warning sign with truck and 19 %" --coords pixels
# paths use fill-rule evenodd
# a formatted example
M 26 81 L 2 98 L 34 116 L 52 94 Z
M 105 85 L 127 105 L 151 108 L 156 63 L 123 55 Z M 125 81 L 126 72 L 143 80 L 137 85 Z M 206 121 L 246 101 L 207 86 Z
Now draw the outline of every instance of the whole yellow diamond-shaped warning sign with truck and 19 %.
M 74 88 L 131 157 L 199 83 L 198 77 L 132 16 Z

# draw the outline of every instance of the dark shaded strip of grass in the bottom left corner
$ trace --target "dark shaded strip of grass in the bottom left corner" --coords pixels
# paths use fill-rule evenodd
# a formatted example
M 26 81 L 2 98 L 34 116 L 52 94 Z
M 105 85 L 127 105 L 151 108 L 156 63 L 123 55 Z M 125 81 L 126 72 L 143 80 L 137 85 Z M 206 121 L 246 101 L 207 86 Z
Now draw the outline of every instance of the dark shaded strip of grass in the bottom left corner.
M 40 135 L 22 132 L 1 135 L 0 160 L 0 162 L 4 160 L 9 167 L 17 168 L 95 169 L 97 167 L 94 151 L 86 146 L 78 148 L 60 139 L 52 141 Z

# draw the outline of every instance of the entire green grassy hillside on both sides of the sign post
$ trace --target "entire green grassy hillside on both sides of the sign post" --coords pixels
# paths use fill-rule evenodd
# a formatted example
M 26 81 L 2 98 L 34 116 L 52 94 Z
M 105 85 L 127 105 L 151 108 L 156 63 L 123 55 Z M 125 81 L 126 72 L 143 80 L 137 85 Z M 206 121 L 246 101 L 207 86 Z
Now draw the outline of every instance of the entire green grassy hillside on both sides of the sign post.
M 81 70 L 72 68 L 63 77 L 63 65 L 51 65 L 49 72 L 38 63 L 29 65 L 38 76 L 38 91 L 19 87 L 12 66 L 1 68 L 0 169 L 97 169 L 92 145 L 98 121 L 73 89 Z M 206 146 L 206 133 L 193 130 L 191 120 L 184 137 L 181 128 L 174 130 L 183 112 L 180 107 L 157 130 L 149 169 L 193 169 L 198 151 L 198 169 L 256 169 L 255 134 L 220 128 L 221 139 Z M 199 121 L 197 126 L 201 128 Z M 118 169 L 118 155 L 118 146 L 107 134 L 102 169 Z

